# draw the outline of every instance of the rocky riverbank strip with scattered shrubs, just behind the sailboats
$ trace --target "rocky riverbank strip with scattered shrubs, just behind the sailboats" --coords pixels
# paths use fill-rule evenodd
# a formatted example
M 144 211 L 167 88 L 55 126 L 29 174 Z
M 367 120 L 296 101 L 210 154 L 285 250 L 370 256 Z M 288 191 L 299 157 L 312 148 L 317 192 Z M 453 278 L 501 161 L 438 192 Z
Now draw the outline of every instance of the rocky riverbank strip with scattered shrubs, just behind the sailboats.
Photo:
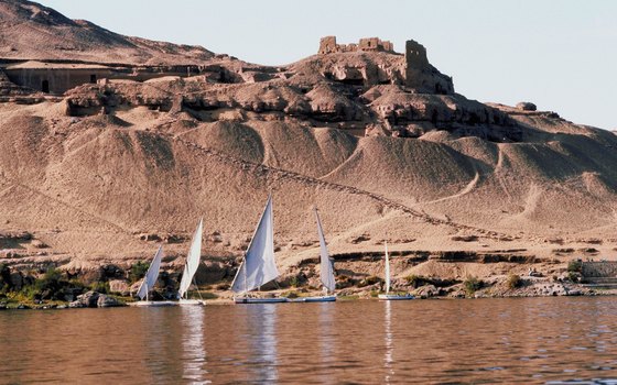
M 334 255 L 339 299 L 376 298 L 385 289 L 382 256 L 377 253 Z M 390 282 L 394 293 L 416 298 L 541 297 L 617 294 L 617 263 L 580 258 L 539 258 L 517 251 L 392 252 Z M 229 290 L 236 258 L 205 258 L 191 295 L 212 304 L 232 302 Z M 170 266 L 171 267 L 171 266 Z M 75 271 L 0 264 L 0 308 L 78 308 L 122 306 L 136 300 L 148 263 L 104 264 Z M 153 300 L 174 299 L 181 274 L 164 270 L 151 293 Z M 255 296 L 289 298 L 321 295 L 316 258 L 285 268 Z

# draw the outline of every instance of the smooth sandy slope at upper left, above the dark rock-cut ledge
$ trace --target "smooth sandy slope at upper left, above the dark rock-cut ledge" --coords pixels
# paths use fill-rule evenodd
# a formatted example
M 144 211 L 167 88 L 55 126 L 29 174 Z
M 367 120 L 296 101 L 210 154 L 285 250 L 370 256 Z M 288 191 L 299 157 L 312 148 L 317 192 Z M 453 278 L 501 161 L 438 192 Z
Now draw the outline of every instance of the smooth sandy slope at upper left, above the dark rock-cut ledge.
M 201 64 L 212 56 L 199 46 L 123 36 L 32 1 L 0 1 L 2 58 L 182 65 Z

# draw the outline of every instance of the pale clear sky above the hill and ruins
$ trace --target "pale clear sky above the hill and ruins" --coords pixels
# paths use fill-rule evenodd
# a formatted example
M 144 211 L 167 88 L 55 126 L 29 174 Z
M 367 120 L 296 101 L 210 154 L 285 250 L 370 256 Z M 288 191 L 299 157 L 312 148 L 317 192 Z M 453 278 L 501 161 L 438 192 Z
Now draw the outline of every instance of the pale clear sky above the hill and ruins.
M 458 94 L 531 101 L 575 123 L 617 130 L 614 0 L 39 0 L 125 35 L 202 45 L 266 65 L 378 36 L 423 44 Z

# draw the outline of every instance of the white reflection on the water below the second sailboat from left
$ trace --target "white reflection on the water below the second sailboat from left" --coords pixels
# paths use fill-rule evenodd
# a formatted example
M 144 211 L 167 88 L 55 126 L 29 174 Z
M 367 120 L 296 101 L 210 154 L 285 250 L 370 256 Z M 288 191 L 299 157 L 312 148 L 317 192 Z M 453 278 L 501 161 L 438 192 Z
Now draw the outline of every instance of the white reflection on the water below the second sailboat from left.
M 183 336 L 183 380 L 191 384 L 209 384 L 206 380 L 206 350 L 204 341 L 205 309 L 201 306 L 181 306 Z

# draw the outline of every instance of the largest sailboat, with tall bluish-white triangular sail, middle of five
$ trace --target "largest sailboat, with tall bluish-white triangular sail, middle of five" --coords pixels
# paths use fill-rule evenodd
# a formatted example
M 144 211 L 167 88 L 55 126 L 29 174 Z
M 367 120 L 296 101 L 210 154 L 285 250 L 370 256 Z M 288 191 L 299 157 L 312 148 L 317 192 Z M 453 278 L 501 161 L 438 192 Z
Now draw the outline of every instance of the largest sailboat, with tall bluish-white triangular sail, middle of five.
M 231 290 L 240 293 L 239 297 L 234 297 L 236 304 L 270 304 L 286 302 L 286 298 L 249 298 L 247 293 L 275 279 L 279 270 L 274 261 L 274 221 L 272 216 L 272 196 L 268 197 L 268 202 L 259 220 L 255 234 L 242 264 L 234 277 Z

